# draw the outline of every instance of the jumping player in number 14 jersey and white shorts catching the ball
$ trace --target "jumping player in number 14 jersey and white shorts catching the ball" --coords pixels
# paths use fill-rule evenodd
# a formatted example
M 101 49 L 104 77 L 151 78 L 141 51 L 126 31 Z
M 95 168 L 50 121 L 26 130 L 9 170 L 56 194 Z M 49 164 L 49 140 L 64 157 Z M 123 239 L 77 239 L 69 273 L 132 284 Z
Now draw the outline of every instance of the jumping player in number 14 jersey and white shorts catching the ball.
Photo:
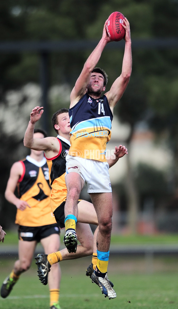
M 107 280 L 113 201 L 105 150 L 111 137 L 114 106 L 126 90 L 132 70 L 130 24 L 126 18 L 123 20 L 126 35 L 122 72 L 110 90 L 101 96 L 106 88 L 107 75 L 104 70 L 95 67 L 106 44 L 111 42 L 106 32 L 107 21 L 101 40 L 85 62 L 72 89 L 69 108 L 71 147 L 66 156 L 65 182 L 68 193 L 64 208 L 64 244 L 68 251 L 76 252 L 77 202 L 81 189 L 86 184 L 99 225 L 97 265 L 91 279 L 101 288 L 105 297 L 109 298 L 115 298 L 116 293 Z

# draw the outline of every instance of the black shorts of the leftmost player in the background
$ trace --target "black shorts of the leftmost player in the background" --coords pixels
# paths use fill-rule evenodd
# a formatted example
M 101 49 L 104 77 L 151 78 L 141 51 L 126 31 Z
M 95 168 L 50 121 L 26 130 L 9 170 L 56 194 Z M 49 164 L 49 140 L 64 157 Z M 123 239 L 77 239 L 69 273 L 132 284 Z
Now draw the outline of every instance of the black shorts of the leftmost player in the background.
M 19 240 L 37 241 L 48 237 L 52 234 L 60 235 L 60 228 L 57 223 L 43 225 L 43 226 L 23 226 L 19 225 L 18 236 Z

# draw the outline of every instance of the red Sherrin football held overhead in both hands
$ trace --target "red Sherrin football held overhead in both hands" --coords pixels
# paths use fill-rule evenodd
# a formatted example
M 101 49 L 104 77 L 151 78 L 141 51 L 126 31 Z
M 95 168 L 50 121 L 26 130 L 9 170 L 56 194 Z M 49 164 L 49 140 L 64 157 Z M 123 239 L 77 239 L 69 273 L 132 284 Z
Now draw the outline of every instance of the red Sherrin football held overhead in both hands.
M 126 34 L 126 30 L 122 27 L 124 15 L 120 12 L 113 12 L 107 20 L 106 31 L 113 41 L 120 41 Z

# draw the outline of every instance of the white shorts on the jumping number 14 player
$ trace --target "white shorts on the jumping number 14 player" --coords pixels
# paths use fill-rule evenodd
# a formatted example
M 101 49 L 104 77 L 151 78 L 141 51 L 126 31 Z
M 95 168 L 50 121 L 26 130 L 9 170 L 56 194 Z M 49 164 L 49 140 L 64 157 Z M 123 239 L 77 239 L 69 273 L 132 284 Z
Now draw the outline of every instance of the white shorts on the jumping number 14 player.
M 112 192 L 109 164 L 97 160 L 66 156 L 66 174 L 78 173 L 85 181 L 88 193 Z

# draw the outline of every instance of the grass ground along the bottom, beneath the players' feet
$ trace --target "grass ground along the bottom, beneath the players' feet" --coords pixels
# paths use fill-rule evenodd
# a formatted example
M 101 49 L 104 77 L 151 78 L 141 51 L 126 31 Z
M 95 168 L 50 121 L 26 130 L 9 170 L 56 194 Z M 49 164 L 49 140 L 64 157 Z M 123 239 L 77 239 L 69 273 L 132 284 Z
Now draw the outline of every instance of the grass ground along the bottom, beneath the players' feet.
M 0 256 L 0 284 L 10 273 L 16 258 L 2 259 Z M 110 256 L 108 274 L 117 293 L 114 300 L 105 298 L 100 288 L 85 276 L 90 260 L 87 257 L 60 263 L 62 309 L 178 308 L 176 257 L 155 258 L 153 273 L 149 274 L 143 258 Z M 0 299 L 0 309 L 49 309 L 48 285 L 41 284 L 36 270 L 34 261 L 31 269 L 21 275 L 9 297 Z

